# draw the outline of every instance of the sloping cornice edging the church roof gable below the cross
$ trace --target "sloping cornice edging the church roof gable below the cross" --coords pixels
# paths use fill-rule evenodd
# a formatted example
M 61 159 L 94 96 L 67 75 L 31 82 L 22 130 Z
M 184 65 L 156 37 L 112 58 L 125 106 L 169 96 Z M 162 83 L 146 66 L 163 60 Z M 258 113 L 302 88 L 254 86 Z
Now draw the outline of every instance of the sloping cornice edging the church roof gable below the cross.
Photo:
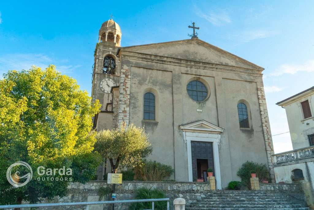
M 181 44 L 188 44 L 188 43 L 197 43 L 201 46 L 208 47 L 214 51 L 217 51 L 226 57 L 229 57 L 233 60 L 236 60 L 238 62 L 245 63 L 246 65 L 252 67 L 252 69 L 260 70 L 261 72 L 264 70 L 263 67 L 260 67 L 252 62 L 249 62 L 241 57 L 238 57 L 228 51 L 225 51 L 219 47 L 216 47 L 214 45 L 211 45 L 203 40 L 200 39 L 187 39 L 187 40 L 178 40 L 178 41 L 169 41 L 169 42 L 162 42 L 162 43 L 154 43 L 154 44 L 147 44 L 147 45 L 136 45 L 136 46 L 128 46 L 128 47 L 121 47 L 117 51 L 117 55 L 120 55 L 120 53 L 123 51 L 137 51 L 137 50 L 143 50 L 143 49 L 151 49 L 151 48 L 161 48 L 161 47 L 167 47 L 167 46 L 173 46 L 173 45 L 181 45 Z

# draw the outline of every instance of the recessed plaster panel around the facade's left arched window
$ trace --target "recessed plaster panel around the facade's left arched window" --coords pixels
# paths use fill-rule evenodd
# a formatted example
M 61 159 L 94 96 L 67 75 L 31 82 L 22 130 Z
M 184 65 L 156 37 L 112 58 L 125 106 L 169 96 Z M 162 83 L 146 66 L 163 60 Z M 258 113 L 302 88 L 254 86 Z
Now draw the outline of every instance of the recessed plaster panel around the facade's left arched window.
M 153 146 L 149 159 L 174 165 L 172 74 L 167 71 L 131 68 L 130 124 L 143 127 Z M 143 120 L 146 92 L 155 95 L 155 121 Z M 171 177 L 174 179 L 174 176 Z

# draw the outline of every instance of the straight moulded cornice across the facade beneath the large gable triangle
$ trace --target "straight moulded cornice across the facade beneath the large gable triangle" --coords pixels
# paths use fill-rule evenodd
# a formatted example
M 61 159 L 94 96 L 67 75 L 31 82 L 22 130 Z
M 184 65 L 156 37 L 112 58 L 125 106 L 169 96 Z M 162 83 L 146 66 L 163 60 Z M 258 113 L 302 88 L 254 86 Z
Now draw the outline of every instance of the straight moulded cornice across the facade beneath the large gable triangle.
M 129 59 L 129 60 L 154 62 L 154 63 L 174 65 L 174 66 L 221 71 L 221 72 L 228 72 L 228 73 L 238 73 L 238 74 L 252 75 L 252 76 L 258 76 L 258 77 L 263 76 L 262 70 L 257 70 L 257 69 L 248 69 L 248 68 L 243 68 L 243 67 L 227 66 L 227 65 L 222 65 L 222 64 L 215 64 L 215 63 L 208 63 L 208 62 L 201 62 L 201 61 L 191 61 L 191 60 L 185 60 L 181 58 L 151 55 L 147 53 L 126 51 L 126 50 L 124 50 L 123 52 L 120 51 L 119 54 L 123 58 Z

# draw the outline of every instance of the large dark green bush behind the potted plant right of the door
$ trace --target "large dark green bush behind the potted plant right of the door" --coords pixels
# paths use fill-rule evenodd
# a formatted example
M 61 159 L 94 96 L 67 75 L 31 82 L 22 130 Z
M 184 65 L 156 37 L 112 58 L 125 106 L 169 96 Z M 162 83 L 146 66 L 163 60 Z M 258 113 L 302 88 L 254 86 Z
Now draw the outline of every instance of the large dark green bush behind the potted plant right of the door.
M 241 177 L 242 183 L 251 189 L 251 173 L 255 172 L 259 180 L 269 180 L 269 170 L 266 164 L 258 164 L 252 161 L 246 161 L 238 170 L 237 175 Z

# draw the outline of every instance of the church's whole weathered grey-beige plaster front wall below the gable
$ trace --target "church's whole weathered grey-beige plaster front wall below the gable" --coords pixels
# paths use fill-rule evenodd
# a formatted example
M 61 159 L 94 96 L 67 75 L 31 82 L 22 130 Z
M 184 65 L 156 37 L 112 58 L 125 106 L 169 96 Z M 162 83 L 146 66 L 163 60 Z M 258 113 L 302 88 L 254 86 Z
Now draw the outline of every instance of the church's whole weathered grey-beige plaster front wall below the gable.
M 168 53 L 175 53 L 176 50 L 169 49 Z M 194 59 L 193 54 L 191 55 Z M 215 56 L 207 54 L 207 59 L 214 60 Z M 176 181 L 187 181 L 187 145 L 179 126 L 196 120 L 206 120 L 225 129 L 219 145 L 223 188 L 231 180 L 239 180 L 236 176 L 237 170 L 247 160 L 267 164 L 257 99 L 257 86 L 263 86 L 262 75 L 240 74 L 231 69 L 218 71 L 214 68 L 208 70 L 157 63 L 153 58 L 150 60 L 143 61 L 121 55 L 122 68 L 131 69 L 129 123 L 146 127 L 154 147 L 150 159 L 171 163 L 175 168 Z M 200 78 L 208 85 L 210 96 L 203 102 L 193 101 L 187 94 L 187 83 L 193 78 Z M 142 100 L 145 89 L 148 88 L 155 89 L 158 94 L 158 122 L 143 121 Z M 252 112 L 251 128 L 245 131 L 239 128 L 239 100 L 246 100 Z

